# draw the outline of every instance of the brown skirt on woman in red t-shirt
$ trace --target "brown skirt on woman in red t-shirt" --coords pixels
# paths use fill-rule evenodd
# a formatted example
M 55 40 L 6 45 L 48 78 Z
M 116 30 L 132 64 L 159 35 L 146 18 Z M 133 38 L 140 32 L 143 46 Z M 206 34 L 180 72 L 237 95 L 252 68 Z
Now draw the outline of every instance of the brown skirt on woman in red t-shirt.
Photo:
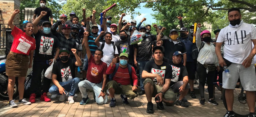
M 5 62 L 7 76 L 26 77 L 29 68 L 29 56 L 10 51 Z

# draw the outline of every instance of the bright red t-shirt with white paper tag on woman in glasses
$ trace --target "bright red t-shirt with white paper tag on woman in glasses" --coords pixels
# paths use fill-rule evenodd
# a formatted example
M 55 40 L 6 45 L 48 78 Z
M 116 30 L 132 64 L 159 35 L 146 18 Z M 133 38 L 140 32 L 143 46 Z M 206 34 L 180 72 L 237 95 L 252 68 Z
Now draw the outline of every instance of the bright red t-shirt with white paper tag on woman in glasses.
M 11 48 L 12 52 L 29 55 L 30 50 L 35 50 L 35 39 L 33 37 L 29 37 L 21 29 L 14 26 L 12 35 L 14 37 Z

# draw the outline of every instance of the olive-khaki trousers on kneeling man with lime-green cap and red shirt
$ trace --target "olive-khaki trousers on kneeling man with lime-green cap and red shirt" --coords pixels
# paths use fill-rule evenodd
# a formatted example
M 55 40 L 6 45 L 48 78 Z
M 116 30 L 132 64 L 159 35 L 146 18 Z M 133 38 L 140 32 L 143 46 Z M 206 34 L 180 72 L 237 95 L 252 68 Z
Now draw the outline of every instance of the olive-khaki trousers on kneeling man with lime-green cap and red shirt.
M 138 97 L 137 91 L 132 91 L 132 86 L 129 85 L 121 85 L 122 88 L 120 88 L 119 84 L 111 80 L 107 83 L 107 89 L 114 88 L 115 94 L 125 94 L 126 97 L 129 99 L 134 99 L 135 97 Z

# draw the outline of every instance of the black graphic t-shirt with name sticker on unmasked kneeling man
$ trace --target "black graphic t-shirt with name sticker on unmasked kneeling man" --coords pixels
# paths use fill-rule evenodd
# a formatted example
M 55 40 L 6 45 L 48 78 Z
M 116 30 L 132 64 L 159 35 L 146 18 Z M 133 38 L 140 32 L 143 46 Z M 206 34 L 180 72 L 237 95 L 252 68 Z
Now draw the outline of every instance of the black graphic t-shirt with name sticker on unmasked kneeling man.
M 163 64 L 157 65 L 155 64 L 154 59 L 148 61 L 144 67 L 145 71 L 152 73 L 152 74 L 158 74 L 164 79 L 171 79 L 172 78 L 172 67 L 170 64 L 163 61 Z M 171 86 L 171 85 L 170 85 Z

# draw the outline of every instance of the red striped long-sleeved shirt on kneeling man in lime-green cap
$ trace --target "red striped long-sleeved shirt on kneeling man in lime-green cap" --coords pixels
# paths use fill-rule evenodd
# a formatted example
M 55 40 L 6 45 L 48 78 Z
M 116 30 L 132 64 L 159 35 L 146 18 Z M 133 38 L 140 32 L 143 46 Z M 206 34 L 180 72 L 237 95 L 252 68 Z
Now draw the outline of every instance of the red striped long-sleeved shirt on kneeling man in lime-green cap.
M 112 74 L 115 70 L 115 64 L 113 65 L 113 67 L 108 66 L 107 68 L 107 74 Z M 133 79 L 133 86 L 138 86 L 138 77 L 137 74 L 135 72 L 134 67 L 132 67 L 132 79 Z M 117 83 L 121 83 L 121 85 L 129 85 L 131 84 L 131 79 L 130 79 L 130 75 L 129 75 L 129 71 L 128 71 L 128 67 L 126 68 L 122 68 L 122 67 L 118 67 L 115 76 L 113 76 L 113 80 L 115 80 Z

